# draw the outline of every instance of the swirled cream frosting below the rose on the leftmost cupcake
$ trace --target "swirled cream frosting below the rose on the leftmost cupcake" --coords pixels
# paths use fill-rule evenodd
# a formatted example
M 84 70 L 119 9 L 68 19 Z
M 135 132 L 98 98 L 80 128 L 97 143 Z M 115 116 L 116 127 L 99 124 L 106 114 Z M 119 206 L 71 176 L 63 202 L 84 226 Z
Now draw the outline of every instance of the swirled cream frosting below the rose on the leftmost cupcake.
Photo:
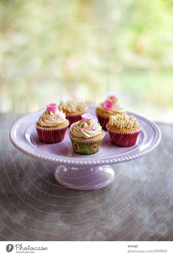
M 61 110 L 56 109 L 55 112 L 45 110 L 39 117 L 38 122 L 41 126 L 56 126 L 66 120 L 66 115 Z

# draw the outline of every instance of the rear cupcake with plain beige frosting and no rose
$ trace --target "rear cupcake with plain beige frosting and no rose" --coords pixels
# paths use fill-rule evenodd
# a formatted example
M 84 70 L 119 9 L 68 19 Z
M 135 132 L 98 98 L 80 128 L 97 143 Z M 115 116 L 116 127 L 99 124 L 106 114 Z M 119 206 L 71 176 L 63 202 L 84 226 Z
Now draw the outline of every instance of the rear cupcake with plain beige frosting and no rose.
M 59 109 L 62 109 L 69 121 L 69 126 L 80 120 L 81 115 L 87 112 L 87 107 L 83 101 L 68 100 L 61 101 Z

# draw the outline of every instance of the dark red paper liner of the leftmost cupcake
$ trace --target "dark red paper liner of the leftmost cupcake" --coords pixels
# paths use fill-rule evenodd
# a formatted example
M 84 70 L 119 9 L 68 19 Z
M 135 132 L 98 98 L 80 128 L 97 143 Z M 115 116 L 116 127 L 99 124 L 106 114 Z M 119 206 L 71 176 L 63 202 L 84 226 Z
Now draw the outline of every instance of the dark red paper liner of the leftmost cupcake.
M 60 128 L 44 128 L 38 125 L 35 125 L 35 127 L 41 142 L 53 144 L 61 142 L 64 139 L 68 124 Z

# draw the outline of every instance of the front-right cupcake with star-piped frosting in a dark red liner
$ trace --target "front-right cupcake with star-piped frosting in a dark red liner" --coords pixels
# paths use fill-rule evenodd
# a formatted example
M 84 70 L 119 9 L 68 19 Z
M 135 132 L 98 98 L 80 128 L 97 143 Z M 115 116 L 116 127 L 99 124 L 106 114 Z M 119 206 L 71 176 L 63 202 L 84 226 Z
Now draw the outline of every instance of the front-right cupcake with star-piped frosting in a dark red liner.
M 106 125 L 111 142 L 119 147 L 131 147 L 136 143 L 141 130 L 133 115 L 111 115 Z

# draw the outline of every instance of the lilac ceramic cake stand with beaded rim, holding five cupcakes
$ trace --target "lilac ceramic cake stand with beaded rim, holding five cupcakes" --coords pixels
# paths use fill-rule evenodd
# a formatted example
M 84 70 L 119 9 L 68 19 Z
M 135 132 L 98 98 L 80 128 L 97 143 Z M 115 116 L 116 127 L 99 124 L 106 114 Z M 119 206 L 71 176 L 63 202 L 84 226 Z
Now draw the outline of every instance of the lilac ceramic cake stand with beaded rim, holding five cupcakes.
M 89 111 L 96 116 L 95 107 L 91 106 Z M 43 109 L 20 118 L 10 130 L 10 140 L 26 155 L 55 163 L 56 181 L 72 189 L 93 190 L 109 185 L 115 177 L 114 169 L 110 164 L 144 156 L 157 147 L 161 140 L 161 132 L 156 124 L 128 112 L 129 115 L 134 115 L 138 119 L 142 128 L 134 146 L 116 147 L 110 142 L 109 134 L 106 132 L 99 152 L 83 156 L 73 152 L 68 131 L 60 143 L 44 144 L 39 141 L 35 122 L 42 112 Z

